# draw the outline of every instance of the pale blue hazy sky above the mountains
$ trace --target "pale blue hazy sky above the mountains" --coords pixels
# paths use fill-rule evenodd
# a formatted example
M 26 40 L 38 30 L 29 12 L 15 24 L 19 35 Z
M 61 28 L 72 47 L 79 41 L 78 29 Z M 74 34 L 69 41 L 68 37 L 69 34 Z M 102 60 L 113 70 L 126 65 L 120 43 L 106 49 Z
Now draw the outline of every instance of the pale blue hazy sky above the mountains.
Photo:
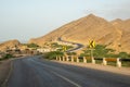
M 0 0 L 0 41 L 25 42 L 91 13 L 130 18 L 129 5 L 130 0 Z

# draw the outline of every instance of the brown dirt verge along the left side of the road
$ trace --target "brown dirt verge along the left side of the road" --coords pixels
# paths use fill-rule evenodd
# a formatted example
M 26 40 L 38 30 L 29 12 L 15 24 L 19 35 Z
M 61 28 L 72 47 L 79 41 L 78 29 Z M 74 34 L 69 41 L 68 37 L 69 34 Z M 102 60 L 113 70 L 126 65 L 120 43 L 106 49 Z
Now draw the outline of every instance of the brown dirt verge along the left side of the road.
M 0 87 L 6 79 L 11 69 L 11 60 L 0 61 Z

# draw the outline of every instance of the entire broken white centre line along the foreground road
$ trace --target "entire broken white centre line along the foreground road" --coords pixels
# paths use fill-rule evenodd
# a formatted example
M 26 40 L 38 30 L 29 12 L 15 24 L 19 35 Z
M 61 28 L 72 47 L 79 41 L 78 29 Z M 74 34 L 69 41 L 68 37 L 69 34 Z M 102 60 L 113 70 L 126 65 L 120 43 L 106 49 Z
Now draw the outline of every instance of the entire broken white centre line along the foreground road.
M 43 66 L 47 66 L 47 67 L 52 67 L 52 66 L 49 66 L 49 65 L 47 65 L 47 64 L 42 64 L 41 62 L 35 61 L 35 60 L 32 60 L 32 59 L 31 59 L 30 61 L 34 61 L 35 63 L 40 64 L 40 65 L 43 65 Z M 51 70 L 50 70 L 50 71 L 51 71 Z M 64 80 L 70 83 L 70 84 L 73 84 L 73 85 L 75 85 L 76 87 L 81 87 L 80 85 L 78 85 L 77 83 L 70 80 L 69 78 L 67 78 L 67 77 L 65 77 L 65 76 L 63 76 L 63 75 L 60 75 L 60 74 L 57 74 L 56 72 L 53 72 L 53 71 L 51 71 L 51 72 L 52 72 L 54 75 L 63 78 Z

